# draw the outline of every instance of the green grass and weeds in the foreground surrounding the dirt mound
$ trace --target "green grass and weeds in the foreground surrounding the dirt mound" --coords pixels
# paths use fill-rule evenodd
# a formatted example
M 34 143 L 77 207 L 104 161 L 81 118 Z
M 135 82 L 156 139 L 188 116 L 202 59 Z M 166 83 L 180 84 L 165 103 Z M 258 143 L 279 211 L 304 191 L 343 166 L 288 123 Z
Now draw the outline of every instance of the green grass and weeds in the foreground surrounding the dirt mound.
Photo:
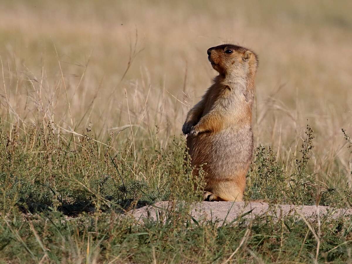
M 163 149 L 156 128 L 153 142 L 136 146 L 135 160 L 131 140 L 113 150 L 113 134 L 103 145 L 87 128 L 74 147 L 65 136 L 54 134 L 53 127 L 24 134 L 18 127 L 1 126 L 4 263 L 222 263 L 230 257 L 236 263 L 350 260 L 349 218 L 328 215 L 318 224 L 299 215 L 262 215 L 251 221 L 239 217 L 231 225 L 191 218 L 192 202 L 200 201 L 202 175 L 193 177 L 185 163 L 184 139 L 174 138 Z M 245 199 L 351 206 L 344 186 L 322 186 L 309 170 L 313 140 L 307 126 L 301 155 L 289 175 L 271 147 L 258 146 Z M 169 199 L 175 203 L 165 212 L 164 222 L 141 223 L 124 214 Z

